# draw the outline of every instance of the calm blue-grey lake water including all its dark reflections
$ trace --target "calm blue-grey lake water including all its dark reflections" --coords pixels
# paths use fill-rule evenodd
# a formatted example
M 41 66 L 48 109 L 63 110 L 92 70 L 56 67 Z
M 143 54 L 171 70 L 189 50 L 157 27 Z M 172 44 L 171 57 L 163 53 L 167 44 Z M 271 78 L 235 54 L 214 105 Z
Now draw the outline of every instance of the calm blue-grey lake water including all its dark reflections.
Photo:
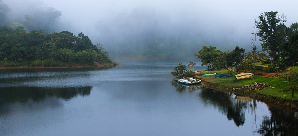
M 176 84 L 177 62 L 1 70 L 0 135 L 298 135 L 297 112 Z

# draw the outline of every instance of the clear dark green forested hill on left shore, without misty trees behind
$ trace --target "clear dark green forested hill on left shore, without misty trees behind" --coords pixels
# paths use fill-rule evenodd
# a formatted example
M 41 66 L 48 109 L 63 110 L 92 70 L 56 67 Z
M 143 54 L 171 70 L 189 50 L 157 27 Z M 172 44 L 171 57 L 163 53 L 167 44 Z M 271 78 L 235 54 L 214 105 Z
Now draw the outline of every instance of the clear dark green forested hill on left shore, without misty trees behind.
M 41 30 L 27 32 L 24 27 L 0 28 L 0 65 L 62 66 L 111 63 L 103 45 L 93 45 L 87 35 L 71 32 L 47 34 Z M 60 63 L 61 62 L 61 63 Z

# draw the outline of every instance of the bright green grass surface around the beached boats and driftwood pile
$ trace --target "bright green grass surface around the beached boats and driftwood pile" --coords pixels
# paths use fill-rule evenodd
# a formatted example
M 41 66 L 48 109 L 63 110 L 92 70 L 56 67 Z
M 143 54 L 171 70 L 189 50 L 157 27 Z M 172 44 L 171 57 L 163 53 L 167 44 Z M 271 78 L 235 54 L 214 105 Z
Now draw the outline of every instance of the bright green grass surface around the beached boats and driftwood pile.
M 297 68 L 298 71 L 298 68 Z M 218 73 L 218 74 L 227 74 L 227 70 L 220 70 L 220 71 L 204 71 L 201 74 L 211 74 L 211 73 Z M 237 73 L 233 73 L 235 75 Z M 197 78 L 202 78 L 202 76 L 197 76 Z M 282 82 L 285 79 L 275 78 L 275 77 L 263 77 L 263 76 L 255 76 L 252 79 L 241 79 L 235 81 L 235 77 L 225 77 L 225 78 L 204 78 L 203 80 L 207 81 L 207 84 L 216 86 L 223 90 L 230 90 L 231 87 L 241 87 L 243 85 L 249 85 L 251 83 L 259 82 L 259 83 L 268 83 L 270 86 L 275 87 L 265 87 L 266 89 L 263 90 L 254 90 L 257 93 L 261 93 L 264 95 L 274 96 L 280 99 L 289 99 L 289 100 L 296 100 L 298 101 L 298 92 L 294 92 L 294 98 L 292 98 L 292 92 L 281 92 L 280 89 L 287 87 L 288 83 Z M 244 90 L 241 90 L 242 92 Z M 283 96 L 286 95 L 286 96 Z

